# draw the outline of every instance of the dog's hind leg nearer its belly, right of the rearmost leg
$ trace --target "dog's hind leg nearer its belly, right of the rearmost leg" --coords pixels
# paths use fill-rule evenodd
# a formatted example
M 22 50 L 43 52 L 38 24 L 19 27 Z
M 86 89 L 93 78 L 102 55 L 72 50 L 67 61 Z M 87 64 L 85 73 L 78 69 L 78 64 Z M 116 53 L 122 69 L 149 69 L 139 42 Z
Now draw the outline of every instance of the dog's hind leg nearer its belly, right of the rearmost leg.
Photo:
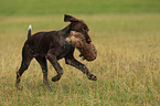
M 45 56 L 36 56 L 35 57 L 39 64 L 41 65 L 42 73 L 43 73 L 43 83 L 47 86 L 49 89 L 51 89 L 51 85 L 47 80 L 47 63 Z

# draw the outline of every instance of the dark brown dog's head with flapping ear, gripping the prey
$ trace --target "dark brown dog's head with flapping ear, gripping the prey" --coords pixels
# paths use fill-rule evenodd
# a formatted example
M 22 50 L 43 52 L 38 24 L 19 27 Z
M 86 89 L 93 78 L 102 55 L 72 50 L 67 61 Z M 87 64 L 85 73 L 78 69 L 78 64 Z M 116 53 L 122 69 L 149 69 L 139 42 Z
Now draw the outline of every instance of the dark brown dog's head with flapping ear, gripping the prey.
M 92 42 L 88 35 L 89 29 L 83 20 L 78 20 L 72 15 L 64 14 L 64 22 L 71 22 L 71 31 L 81 32 L 85 36 L 88 44 Z

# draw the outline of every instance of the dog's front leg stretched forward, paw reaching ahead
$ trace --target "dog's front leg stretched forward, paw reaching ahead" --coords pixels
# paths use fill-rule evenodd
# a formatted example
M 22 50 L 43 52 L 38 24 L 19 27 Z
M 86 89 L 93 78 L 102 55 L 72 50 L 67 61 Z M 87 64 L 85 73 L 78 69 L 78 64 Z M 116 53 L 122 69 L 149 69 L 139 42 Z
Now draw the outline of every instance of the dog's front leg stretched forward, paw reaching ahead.
M 65 57 L 65 63 L 81 70 L 84 74 L 87 75 L 88 80 L 97 81 L 97 77 L 93 75 L 84 64 L 75 60 L 73 55 Z

